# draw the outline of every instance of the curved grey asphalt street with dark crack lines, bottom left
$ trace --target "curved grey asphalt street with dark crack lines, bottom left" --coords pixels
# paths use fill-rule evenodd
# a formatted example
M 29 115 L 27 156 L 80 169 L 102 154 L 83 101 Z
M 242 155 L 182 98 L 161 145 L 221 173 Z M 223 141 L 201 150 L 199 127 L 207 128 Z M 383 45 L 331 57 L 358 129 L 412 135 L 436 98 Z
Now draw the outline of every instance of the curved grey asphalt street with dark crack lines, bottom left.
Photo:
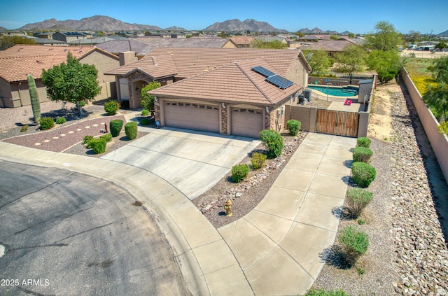
M 0 161 L 0 245 L 0 295 L 186 294 L 151 212 L 99 178 Z

